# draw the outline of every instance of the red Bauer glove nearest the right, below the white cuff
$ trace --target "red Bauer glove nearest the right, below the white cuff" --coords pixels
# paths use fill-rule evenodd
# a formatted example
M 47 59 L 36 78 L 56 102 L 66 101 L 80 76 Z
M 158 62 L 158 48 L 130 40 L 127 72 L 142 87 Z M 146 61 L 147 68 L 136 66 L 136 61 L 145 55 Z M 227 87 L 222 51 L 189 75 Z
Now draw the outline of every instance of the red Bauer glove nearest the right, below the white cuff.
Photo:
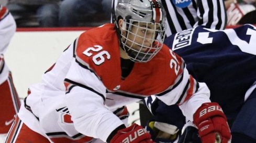
M 193 118 L 203 143 L 214 143 L 218 140 L 217 136 L 220 137 L 222 143 L 230 140 L 227 118 L 218 103 L 203 103 L 194 113 Z

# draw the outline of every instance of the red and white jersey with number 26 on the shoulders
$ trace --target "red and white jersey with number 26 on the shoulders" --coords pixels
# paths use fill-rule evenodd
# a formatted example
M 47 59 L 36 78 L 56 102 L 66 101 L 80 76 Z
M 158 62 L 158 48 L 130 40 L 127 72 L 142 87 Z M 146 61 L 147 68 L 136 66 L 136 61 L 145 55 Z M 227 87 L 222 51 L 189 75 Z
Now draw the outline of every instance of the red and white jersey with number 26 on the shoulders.
M 204 102 L 209 89 L 188 74 L 184 61 L 163 45 L 149 62 L 135 62 L 121 79 L 119 42 L 114 24 L 84 32 L 32 85 L 18 113 L 33 131 L 52 142 L 106 141 L 124 124 L 125 105 L 150 95 L 180 105 L 187 118 Z

